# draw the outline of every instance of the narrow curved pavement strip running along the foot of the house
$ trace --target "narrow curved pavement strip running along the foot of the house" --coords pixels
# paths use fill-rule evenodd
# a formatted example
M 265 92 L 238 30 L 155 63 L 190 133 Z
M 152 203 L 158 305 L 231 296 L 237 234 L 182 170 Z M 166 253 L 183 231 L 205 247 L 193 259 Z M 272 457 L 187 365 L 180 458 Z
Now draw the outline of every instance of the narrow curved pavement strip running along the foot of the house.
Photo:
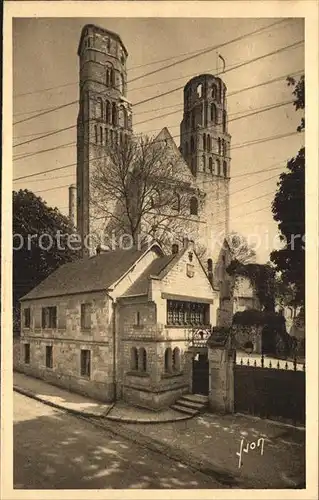
M 120 423 L 141 424 L 174 422 L 190 418 L 188 415 L 171 409 L 154 412 L 135 408 L 122 401 L 116 404 L 101 403 L 20 372 L 13 373 L 13 387 L 14 390 L 26 396 L 84 417 L 100 417 Z

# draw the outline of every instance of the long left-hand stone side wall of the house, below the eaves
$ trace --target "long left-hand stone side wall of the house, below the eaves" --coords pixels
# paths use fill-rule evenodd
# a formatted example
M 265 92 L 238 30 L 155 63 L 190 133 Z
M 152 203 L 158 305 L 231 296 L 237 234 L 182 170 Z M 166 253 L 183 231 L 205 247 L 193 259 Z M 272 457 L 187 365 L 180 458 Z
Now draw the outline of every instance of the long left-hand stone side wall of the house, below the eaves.
M 91 328 L 81 329 L 81 303 L 91 304 Z M 42 307 L 57 306 L 57 328 L 42 329 Z M 24 301 L 31 309 L 31 328 L 22 328 L 19 369 L 70 391 L 101 401 L 112 401 L 112 310 L 103 293 L 78 294 Z M 30 363 L 24 362 L 24 344 L 30 344 Z M 46 367 L 46 346 L 53 347 L 53 367 Z M 15 347 L 16 354 L 18 347 Z M 91 351 L 90 377 L 80 370 L 81 349 Z

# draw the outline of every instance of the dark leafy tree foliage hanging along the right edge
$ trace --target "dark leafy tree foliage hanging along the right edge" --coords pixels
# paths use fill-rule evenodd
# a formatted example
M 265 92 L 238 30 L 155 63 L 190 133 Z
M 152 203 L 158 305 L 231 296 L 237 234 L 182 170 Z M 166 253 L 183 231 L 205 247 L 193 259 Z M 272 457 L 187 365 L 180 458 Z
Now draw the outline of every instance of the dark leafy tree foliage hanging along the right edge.
M 298 82 L 288 78 L 288 85 L 293 86 L 294 106 L 304 110 L 304 77 Z M 297 130 L 305 128 L 302 118 Z M 271 253 L 271 260 L 281 272 L 283 283 L 293 291 L 295 305 L 304 304 L 305 299 L 305 148 L 288 161 L 288 172 L 280 175 L 272 212 L 278 222 L 284 247 Z

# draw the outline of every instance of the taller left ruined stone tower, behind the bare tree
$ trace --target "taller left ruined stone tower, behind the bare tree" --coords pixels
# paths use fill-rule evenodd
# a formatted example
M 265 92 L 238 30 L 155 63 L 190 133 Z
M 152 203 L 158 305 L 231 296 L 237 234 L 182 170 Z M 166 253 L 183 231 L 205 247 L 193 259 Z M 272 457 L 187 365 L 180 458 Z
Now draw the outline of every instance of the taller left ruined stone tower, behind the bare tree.
M 97 230 L 90 206 L 95 159 L 106 157 L 108 144 L 125 141 L 131 134 L 132 113 L 126 99 L 128 53 L 119 35 L 95 25 L 84 26 L 78 56 L 77 229 L 83 241 Z

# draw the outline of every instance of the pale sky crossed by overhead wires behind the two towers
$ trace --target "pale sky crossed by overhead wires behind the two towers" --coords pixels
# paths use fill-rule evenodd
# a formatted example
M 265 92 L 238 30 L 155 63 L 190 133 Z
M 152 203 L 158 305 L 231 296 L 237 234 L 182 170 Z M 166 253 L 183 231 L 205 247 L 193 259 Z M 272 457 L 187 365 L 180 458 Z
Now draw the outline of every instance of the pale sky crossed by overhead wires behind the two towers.
M 279 19 L 15 18 L 13 122 L 78 100 L 77 47 L 83 26 L 92 23 L 117 32 L 128 50 L 127 97 L 133 105 L 134 132 L 155 136 L 166 126 L 179 146 L 183 90 L 174 89 L 198 74 L 221 71 L 221 65 L 217 68 L 214 47 L 276 21 Z M 280 245 L 271 202 L 287 160 L 304 144 L 304 135 L 294 134 L 302 115 L 290 102 L 291 87 L 284 79 L 296 72 L 304 73 L 303 43 L 287 48 L 303 40 L 303 20 L 287 18 L 269 30 L 218 50 L 226 62 L 221 78 L 228 89 L 228 130 L 232 136 L 230 230 L 257 243 L 258 262 L 266 262 L 270 251 Z M 208 47 L 213 50 L 205 55 L 172 64 Z M 278 53 L 266 56 L 277 50 Z M 261 56 L 266 57 L 252 62 Z M 240 64 L 242 66 L 236 68 Z M 171 67 L 145 76 L 166 65 Z M 283 78 L 243 90 L 278 77 Z M 130 83 L 135 78 L 137 80 Z M 174 91 L 156 97 L 170 90 Z M 150 97 L 154 98 L 137 104 Z M 280 106 L 260 112 L 277 104 Z M 254 112 L 252 116 L 242 117 Z M 68 186 L 76 181 L 76 127 L 45 139 L 33 139 L 75 125 L 77 113 L 78 103 L 13 126 L 13 178 L 43 172 L 15 181 L 14 189 L 32 190 L 65 215 L 68 214 Z M 290 133 L 287 137 L 265 140 Z M 245 144 L 255 140 L 263 142 Z M 25 141 L 31 142 L 17 146 Z M 67 167 L 45 173 L 64 166 Z

